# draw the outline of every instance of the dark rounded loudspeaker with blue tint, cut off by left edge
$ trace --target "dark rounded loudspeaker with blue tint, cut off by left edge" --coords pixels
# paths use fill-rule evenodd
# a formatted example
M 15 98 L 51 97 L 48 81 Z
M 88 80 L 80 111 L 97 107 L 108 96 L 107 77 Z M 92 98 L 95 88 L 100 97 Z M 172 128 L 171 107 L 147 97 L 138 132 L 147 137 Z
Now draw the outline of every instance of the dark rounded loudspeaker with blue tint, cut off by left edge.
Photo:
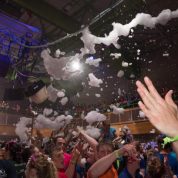
M 0 77 L 5 77 L 10 67 L 10 58 L 0 54 Z

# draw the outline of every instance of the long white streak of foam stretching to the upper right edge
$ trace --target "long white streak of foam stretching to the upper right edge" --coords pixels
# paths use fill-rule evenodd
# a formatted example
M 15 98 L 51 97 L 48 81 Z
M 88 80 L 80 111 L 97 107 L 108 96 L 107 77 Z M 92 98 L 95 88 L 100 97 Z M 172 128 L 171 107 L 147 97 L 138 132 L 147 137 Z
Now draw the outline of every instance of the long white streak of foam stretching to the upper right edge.
M 95 44 L 105 44 L 109 46 L 113 44 L 116 48 L 120 48 L 118 44 L 119 36 L 128 36 L 131 28 L 137 25 L 143 25 L 146 28 L 154 28 L 156 24 L 165 25 L 172 18 L 178 17 L 178 9 L 175 11 L 166 9 L 163 10 L 157 17 L 152 17 L 150 14 L 139 13 L 128 24 L 112 23 L 113 30 L 105 37 L 97 37 L 89 31 L 88 27 L 83 30 L 81 40 L 84 43 L 83 51 L 87 53 L 95 53 Z

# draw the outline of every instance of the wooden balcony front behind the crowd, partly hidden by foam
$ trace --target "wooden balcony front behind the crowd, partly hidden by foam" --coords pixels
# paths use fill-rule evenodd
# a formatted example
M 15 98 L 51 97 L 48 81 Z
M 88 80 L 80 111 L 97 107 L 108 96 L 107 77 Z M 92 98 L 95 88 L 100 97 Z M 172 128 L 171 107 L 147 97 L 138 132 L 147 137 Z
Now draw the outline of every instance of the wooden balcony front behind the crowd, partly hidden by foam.
M 107 113 L 106 115 L 111 120 L 111 126 L 115 127 L 118 131 L 124 125 L 127 125 L 132 130 L 133 134 L 149 133 L 152 129 L 154 129 L 154 127 L 150 124 L 150 122 L 148 122 L 147 118 L 139 117 L 139 110 L 139 108 L 125 109 L 125 112 L 123 114 L 115 115 L 113 113 Z M 19 121 L 20 117 L 22 117 L 22 115 L 20 114 L 0 112 L 0 134 L 14 135 L 15 124 Z M 68 125 L 68 127 L 85 127 L 86 125 L 88 124 L 85 120 L 81 118 L 75 118 L 73 119 L 72 123 Z M 48 130 L 50 131 L 50 129 Z M 45 135 L 49 134 L 45 133 Z

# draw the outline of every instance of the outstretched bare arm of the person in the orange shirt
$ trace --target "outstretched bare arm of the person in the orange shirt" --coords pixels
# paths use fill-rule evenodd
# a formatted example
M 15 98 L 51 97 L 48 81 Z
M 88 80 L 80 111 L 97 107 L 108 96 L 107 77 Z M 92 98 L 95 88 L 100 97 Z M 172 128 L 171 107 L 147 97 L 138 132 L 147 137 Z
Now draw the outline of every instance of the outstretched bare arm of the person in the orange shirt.
M 133 145 L 125 145 L 119 150 L 115 150 L 111 154 L 99 159 L 96 161 L 88 170 L 89 178 L 97 178 L 104 174 L 111 166 L 112 163 L 119 157 L 123 155 L 132 156 L 133 149 L 135 147 Z

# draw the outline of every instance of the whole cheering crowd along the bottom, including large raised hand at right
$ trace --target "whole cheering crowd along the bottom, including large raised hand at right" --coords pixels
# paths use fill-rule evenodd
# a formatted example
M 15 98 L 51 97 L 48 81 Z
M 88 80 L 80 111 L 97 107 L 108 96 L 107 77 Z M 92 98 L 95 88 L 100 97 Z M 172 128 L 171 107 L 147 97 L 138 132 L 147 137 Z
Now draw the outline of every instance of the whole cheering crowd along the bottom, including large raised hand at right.
M 128 127 L 119 134 L 107 119 L 94 139 L 77 127 L 26 143 L 2 142 L 0 178 L 176 178 L 178 177 L 178 109 L 170 90 L 162 98 L 152 81 L 137 81 L 138 103 L 161 132 L 155 142 L 140 143 Z

